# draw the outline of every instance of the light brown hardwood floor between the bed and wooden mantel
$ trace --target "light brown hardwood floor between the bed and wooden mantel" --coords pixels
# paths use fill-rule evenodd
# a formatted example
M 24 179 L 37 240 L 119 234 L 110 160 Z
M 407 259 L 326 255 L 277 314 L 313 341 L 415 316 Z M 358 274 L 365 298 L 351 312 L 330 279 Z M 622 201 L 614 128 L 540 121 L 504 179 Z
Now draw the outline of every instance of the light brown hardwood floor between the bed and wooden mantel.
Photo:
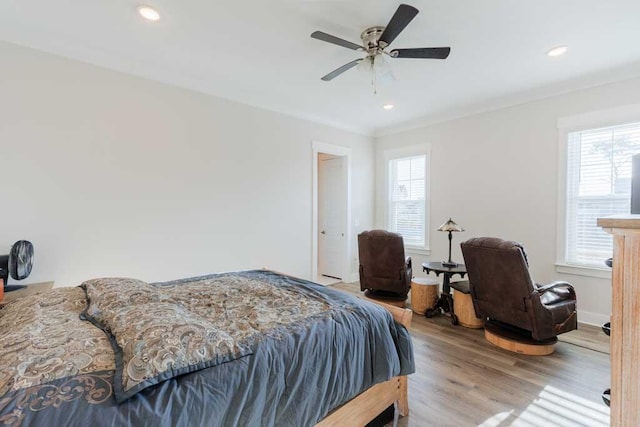
M 360 295 L 357 284 L 333 286 Z M 409 376 L 408 417 L 400 426 L 606 426 L 608 337 L 580 325 L 555 353 L 535 357 L 490 344 L 482 329 L 415 315 L 416 373 Z

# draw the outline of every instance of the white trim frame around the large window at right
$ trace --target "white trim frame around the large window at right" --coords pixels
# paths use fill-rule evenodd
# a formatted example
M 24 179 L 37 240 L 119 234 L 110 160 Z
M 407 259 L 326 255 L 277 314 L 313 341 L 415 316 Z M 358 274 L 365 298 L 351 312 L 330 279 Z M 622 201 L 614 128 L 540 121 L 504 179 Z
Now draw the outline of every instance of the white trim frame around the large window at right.
M 566 260 L 567 245 L 567 186 L 568 186 L 568 138 L 573 132 L 640 122 L 640 104 L 593 111 L 558 119 L 558 204 L 556 271 L 579 276 L 611 279 L 611 269 L 570 264 Z

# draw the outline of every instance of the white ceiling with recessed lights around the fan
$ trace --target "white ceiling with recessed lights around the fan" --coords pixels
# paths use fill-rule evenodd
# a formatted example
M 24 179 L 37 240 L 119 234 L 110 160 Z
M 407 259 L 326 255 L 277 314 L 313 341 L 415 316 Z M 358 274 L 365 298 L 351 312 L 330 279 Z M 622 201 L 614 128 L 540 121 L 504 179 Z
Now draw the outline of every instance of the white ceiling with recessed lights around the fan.
M 309 35 L 359 43 L 399 2 L 141 2 L 162 19 L 135 0 L 2 0 L 0 39 L 366 134 L 640 75 L 640 0 L 410 0 L 420 13 L 392 47 L 451 55 L 390 60 L 397 80 L 377 95 L 356 69 L 321 81 L 362 54 Z

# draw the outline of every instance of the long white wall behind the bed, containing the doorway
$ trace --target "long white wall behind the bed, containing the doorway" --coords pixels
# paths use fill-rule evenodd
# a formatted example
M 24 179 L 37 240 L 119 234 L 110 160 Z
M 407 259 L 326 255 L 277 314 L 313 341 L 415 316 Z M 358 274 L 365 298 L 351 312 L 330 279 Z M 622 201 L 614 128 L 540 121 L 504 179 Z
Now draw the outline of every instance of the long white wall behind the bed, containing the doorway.
M 31 240 L 25 282 L 57 286 L 309 277 L 312 140 L 353 149 L 353 220 L 370 228 L 371 138 L 0 43 L 0 253 Z

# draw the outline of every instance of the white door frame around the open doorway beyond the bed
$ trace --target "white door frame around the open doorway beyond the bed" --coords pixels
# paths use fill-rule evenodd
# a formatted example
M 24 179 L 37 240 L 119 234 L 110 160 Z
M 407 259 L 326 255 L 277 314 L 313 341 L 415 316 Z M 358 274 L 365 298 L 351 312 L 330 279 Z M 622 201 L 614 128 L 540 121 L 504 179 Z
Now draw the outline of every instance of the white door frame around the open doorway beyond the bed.
M 352 282 L 356 279 L 353 278 L 351 273 L 351 240 L 352 240 L 352 228 L 351 228 L 351 148 L 343 147 L 340 145 L 327 144 L 320 141 L 312 141 L 311 147 L 313 151 L 312 155 L 312 203 L 311 203 L 311 280 L 318 278 L 318 155 L 320 153 L 331 154 L 338 157 L 343 157 L 345 160 L 345 176 L 344 182 L 347 186 L 345 192 L 347 198 L 346 209 L 346 224 L 345 224 L 345 236 L 344 239 L 344 259 L 340 266 L 342 271 L 342 280 L 344 282 Z

